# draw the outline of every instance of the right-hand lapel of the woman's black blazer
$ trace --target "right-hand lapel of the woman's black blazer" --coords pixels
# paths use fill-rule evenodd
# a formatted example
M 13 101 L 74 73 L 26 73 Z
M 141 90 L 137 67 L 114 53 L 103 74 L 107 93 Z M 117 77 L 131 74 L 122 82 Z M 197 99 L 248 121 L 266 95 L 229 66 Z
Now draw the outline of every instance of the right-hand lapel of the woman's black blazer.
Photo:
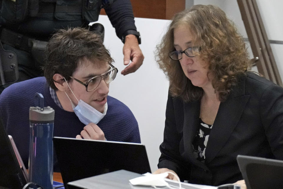
M 205 163 L 209 163 L 223 148 L 238 124 L 249 97 L 245 95 L 245 82 L 241 81 L 227 100 L 220 103 L 205 149 Z

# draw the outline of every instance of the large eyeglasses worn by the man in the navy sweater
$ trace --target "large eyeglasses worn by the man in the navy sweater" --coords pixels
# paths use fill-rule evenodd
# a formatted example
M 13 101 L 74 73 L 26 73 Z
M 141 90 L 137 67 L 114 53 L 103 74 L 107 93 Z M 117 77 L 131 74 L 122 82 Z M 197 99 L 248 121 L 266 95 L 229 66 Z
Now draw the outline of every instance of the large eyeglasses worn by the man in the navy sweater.
M 109 63 L 109 65 L 112 67 L 110 70 L 108 70 L 108 71 L 106 71 L 103 74 L 100 74 L 98 76 L 94 76 L 93 78 L 89 79 L 88 82 L 86 82 L 86 83 L 81 82 L 80 80 L 78 80 L 78 79 L 76 79 L 72 76 L 70 76 L 70 78 L 76 80 L 80 84 L 83 84 L 86 87 L 86 91 L 90 92 L 90 91 L 93 91 L 94 89 L 96 89 L 98 87 L 98 85 L 101 82 L 101 79 L 103 79 L 106 83 L 110 83 L 115 79 L 117 72 L 118 72 L 118 69 L 110 63 Z

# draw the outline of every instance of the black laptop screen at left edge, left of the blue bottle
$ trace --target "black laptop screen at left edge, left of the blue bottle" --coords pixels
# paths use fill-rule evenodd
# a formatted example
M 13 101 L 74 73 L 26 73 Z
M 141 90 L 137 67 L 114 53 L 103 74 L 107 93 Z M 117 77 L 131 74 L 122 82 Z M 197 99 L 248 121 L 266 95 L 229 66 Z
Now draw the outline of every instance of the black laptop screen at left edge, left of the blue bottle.
M 0 118 L 0 186 L 11 189 L 23 188 L 27 183 L 16 154 L 10 143 L 2 120 Z M 1 188 L 0 187 L 0 188 Z

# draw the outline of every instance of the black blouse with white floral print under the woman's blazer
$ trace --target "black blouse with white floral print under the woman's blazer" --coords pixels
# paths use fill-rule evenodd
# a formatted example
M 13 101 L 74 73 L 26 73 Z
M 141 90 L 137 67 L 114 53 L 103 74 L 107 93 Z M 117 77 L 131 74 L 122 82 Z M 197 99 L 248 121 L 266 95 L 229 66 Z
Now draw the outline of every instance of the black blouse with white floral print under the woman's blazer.
M 195 139 L 192 142 L 192 153 L 195 156 L 195 159 L 198 159 L 201 162 L 205 160 L 205 149 L 210 134 L 210 130 L 213 125 L 208 125 L 200 119 L 200 125 L 197 129 Z

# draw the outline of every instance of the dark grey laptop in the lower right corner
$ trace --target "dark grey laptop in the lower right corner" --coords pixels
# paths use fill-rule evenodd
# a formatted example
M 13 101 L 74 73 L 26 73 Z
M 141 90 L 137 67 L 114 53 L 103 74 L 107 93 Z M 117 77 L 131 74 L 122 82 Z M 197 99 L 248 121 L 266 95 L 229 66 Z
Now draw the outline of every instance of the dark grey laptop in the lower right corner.
M 247 189 L 283 188 L 283 161 L 252 156 L 237 156 Z

